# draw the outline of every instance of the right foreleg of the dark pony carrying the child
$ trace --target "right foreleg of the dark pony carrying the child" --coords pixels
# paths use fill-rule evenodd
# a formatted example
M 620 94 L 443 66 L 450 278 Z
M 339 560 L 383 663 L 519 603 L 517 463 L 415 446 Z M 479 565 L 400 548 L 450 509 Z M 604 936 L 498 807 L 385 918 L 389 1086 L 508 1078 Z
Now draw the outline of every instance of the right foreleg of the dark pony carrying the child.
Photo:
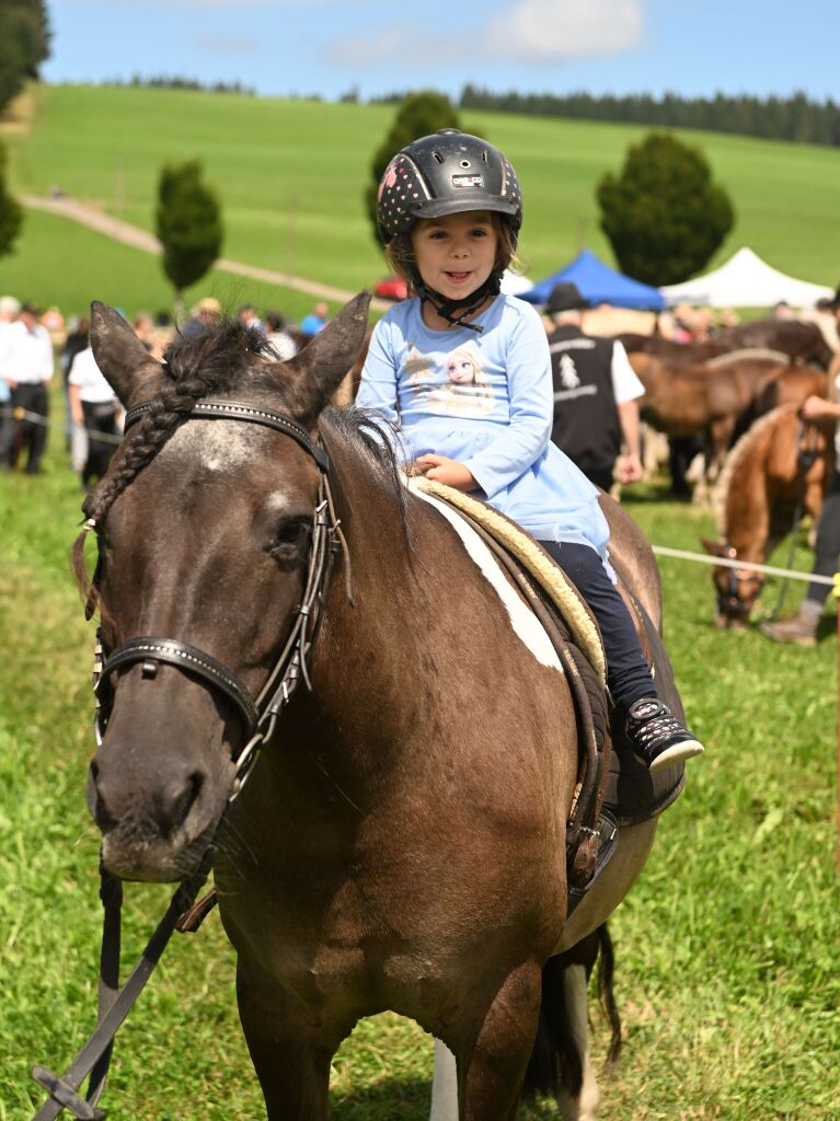
M 514 1121 L 539 1017 L 542 970 L 528 962 L 496 993 L 474 1045 L 459 1062 L 463 1121 Z

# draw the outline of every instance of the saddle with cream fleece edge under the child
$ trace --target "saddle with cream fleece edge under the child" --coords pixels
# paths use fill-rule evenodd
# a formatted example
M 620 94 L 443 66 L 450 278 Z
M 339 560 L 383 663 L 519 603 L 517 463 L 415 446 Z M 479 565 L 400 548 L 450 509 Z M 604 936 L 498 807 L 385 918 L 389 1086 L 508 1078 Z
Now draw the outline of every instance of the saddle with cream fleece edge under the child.
M 409 488 L 452 507 L 484 541 L 539 620 L 566 674 L 581 744 L 566 824 L 571 914 L 607 867 L 619 828 L 661 814 L 679 796 L 685 781 L 683 766 L 650 773 L 634 756 L 624 721 L 608 700 L 598 623 L 578 589 L 539 543 L 480 499 L 425 478 L 412 479 Z M 619 593 L 655 673 L 654 624 L 616 571 Z

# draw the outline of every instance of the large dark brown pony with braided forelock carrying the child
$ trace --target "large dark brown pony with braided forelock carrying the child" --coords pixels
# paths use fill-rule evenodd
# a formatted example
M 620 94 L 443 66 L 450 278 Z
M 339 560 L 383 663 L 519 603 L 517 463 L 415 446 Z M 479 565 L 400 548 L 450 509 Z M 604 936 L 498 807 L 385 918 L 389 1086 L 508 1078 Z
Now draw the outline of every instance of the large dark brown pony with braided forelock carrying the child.
M 160 365 L 94 304 L 96 361 L 137 420 L 85 502 L 108 657 L 89 788 L 103 860 L 183 879 L 223 819 L 221 917 L 274 1121 L 326 1117 L 332 1055 L 384 1009 L 454 1054 L 450 1117 L 513 1119 L 541 1000 L 573 1041 L 551 1063 L 572 1071 L 565 1115 L 591 1119 L 575 947 L 633 884 L 655 821 L 622 827 L 567 919 L 566 677 L 474 541 L 405 489 L 371 418 L 325 410 L 368 298 L 285 364 L 232 324 Z M 680 712 L 655 562 L 603 502 Z M 229 803 L 255 726 L 262 750 Z

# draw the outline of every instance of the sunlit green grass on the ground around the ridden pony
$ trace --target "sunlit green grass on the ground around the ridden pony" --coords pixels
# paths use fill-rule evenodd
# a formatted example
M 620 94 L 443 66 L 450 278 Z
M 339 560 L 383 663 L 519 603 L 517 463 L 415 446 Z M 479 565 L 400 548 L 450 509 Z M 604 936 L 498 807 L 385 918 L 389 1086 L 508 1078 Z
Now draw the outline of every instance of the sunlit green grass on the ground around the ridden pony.
M 93 632 L 70 576 L 81 495 L 57 404 L 55 416 L 46 473 L 0 478 L 0 1121 L 31 1115 L 29 1064 L 63 1069 L 94 1019 Z M 659 545 L 696 549 L 713 532 L 708 513 L 670 501 L 664 484 L 627 506 Z M 795 564 L 810 567 L 803 545 Z M 838 1121 L 834 615 L 814 650 L 756 630 L 720 633 L 710 569 L 675 559 L 662 569 L 666 639 L 708 752 L 611 923 L 626 1043 L 618 1076 L 602 1081 L 601 1115 Z M 775 591 L 770 582 L 767 604 Z M 124 961 L 167 898 L 129 886 Z M 600 1064 L 608 1040 L 593 1016 Z M 430 1076 L 431 1044 L 415 1025 L 364 1021 L 334 1060 L 333 1115 L 422 1121 Z M 113 1121 L 264 1117 L 216 916 L 167 952 L 118 1038 L 103 1104 Z M 542 1103 L 520 1117 L 556 1111 Z

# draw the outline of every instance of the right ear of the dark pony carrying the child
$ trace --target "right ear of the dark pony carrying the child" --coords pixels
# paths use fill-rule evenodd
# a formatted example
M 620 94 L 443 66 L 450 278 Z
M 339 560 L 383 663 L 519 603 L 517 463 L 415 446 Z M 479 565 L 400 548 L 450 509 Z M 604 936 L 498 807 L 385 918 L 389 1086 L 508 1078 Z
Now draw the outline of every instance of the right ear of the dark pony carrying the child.
M 286 399 L 302 424 L 314 424 L 358 358 L 368 327 L 370 295 L 360 291 L 299 354 L 289 362 L 274 363 Z

